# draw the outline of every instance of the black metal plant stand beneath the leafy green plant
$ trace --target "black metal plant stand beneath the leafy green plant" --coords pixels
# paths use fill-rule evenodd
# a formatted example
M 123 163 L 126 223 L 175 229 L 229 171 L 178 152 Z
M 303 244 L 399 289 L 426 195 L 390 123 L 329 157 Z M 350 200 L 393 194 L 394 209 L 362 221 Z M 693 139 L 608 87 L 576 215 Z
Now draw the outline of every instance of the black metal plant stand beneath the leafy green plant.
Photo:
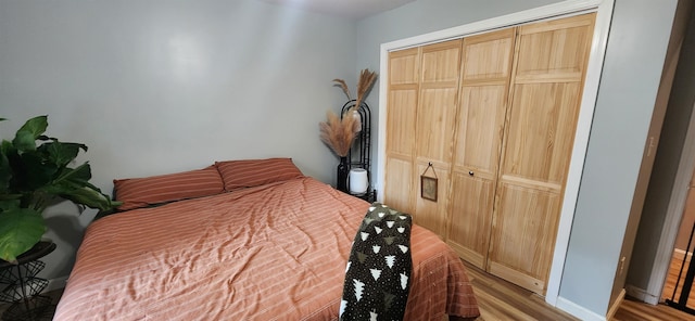
M 0 260 L 0 301 L 12 305 L 2 320 L 50 320 L 52 299 L 40 295 L 48 280 L 37 278 L 46 264 L 38 260 L 55 249 L 55 243 L 41 241 L 17 257 L 13 265 Z

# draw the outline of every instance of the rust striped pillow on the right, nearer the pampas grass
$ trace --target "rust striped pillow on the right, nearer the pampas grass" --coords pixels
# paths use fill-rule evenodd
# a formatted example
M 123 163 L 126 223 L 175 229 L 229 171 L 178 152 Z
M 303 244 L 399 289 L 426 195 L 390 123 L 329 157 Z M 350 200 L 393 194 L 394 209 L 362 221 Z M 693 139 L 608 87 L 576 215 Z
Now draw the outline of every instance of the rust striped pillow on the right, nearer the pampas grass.
M 304 177 L 292 158 L 215 162 L 228 192 Z

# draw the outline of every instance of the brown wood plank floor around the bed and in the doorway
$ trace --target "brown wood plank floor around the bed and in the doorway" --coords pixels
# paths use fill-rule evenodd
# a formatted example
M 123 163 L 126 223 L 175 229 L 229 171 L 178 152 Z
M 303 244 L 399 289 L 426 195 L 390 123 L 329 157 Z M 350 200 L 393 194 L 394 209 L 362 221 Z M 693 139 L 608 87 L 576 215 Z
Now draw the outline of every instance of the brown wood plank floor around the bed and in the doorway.
M 477 321 L 496 320 L 579 320 L 545 303 L 544 298 L 523 290 L 517 285 L 488 274 L 480 269 L 466 264 L 468 277 L 480 306 L 480 318 Z M 678 274 L 675 274 L 678 277 Z M 670 277 L 669 277 L 670 278 Z M 673 281 L 674 282 L 674 281 Z M 672 291 L 672 288 L 671 288 Z M 62 290 L 49 292 L 54 304 L 60 299 Z M 7 306 L 0 305 L 0 314 Z M 46 320 L 51 317 L 47 316 Z M 652 306 L 630 298 L 620 305 L 611 321 L 658 321 L 658 320 L 693 320 L 695 316 L 687 314 L 674 308 L 658 305 Z

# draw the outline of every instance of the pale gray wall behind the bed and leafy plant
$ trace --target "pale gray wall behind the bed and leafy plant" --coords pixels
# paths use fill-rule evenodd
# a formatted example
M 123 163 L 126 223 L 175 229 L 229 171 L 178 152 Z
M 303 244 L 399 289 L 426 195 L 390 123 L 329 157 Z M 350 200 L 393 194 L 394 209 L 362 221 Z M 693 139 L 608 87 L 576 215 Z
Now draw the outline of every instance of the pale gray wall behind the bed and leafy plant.
M 318 138 L 355 84 L 355 25 L 254 0 L 0 0 L 0 138 L 48 114 L 48 133 L 86 143 L 92 182 L 292 157 L 332 182 Z M 47 213 L 66 277 L 93 211 Z

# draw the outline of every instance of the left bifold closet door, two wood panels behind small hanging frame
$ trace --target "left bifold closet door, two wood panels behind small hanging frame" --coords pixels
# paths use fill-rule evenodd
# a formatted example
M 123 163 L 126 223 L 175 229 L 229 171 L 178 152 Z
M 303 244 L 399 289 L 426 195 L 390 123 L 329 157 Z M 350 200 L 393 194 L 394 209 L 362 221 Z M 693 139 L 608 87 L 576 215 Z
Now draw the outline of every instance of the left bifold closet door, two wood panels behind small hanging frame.
M 384 203 L 445 237 L 462 40 L 389 54 Z M 443 143 L 448 142 L 448 143 Z M 420 175 L 438 178 L 437 201 L 420 197 Z

